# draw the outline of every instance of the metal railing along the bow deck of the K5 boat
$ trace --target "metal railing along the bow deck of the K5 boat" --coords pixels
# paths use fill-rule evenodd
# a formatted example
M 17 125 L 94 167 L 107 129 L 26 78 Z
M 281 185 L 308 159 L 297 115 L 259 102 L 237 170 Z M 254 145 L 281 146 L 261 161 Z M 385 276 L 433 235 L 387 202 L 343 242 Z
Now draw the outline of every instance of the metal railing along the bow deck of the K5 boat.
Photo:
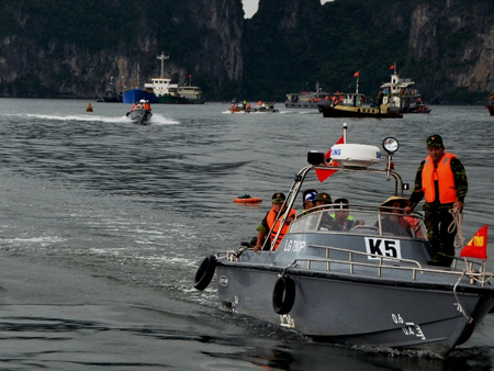
M 297 267 L 303 268 L 301 265 L 302 262 L 305 262 L 305 269 L 311 270 L 314 269 L 313 265 L 315 263 L 324 263 L 326 265 L 326 271 L 333 271 L 332 266 L 338 265 L 341 267 L 341 265 L 349 266 L 349 274 L 356 274 L 356 268 L 357 267 L 367 267 L 372 268 L 377 270 L 377 277 L 382 278 L 383 270 L 401 270 L 401 271 L 409 271 L 411 272 L 411 279 L 412 281 L 417 280 L 417 273 L 425 274 L 425 273 L 434 273 L 434 274 L 448 274 L 448 276 L 458 276 L 461 277 L 462 274 L 465 274 L 470 279 L 470 283 L 479 282 L 482 286 L 493 277 L 493 273 L 487 273 L 483 271 L 483 266 L 481 263 L 474 262 L 474 261 L 468 261 L 468 266 L 465 268 L 465 271 L 459 271 L 459 270 L 444 270 L 444 269 L 435 269 L 435 268 L 424 268 L 418 261 L 411 260 L 411 259 L 402 259 L 402 258 L 394 258 L 394 257 L 388 257 L 388 256 L 378 256 L 375 254 L 368 254 L 368 252 L 361 252 L 361 251 L 355 251 L 349 250 L 345 248 L 339 247 L 330 247 L 330 246 L 322 246 L 322 245 L 315 245 L 311 244 L 310 247 L 315 248 L 323 248 L 326 250 L 326 257 L 325 258 L 296 258 L 293 260 L 293 262 L 290 265 L 290 267 Z M 330 252 L 338 252 L 338 254 L 348 254 L 348 259 L 336 259 L 330 257 Z M 374 260 L 379 260 L 375 262 L 363 262 L 363 261 L 357 261 L 355 260 L 356 257 L 366 257 L 371 258 Z M 396 265 L 390 265 L 386 262 L 386 260 L 391 263 L 400 263 L 400 266 Z M 402 265 L 408 265 L 408 266 L 402 266 Z M 479 266 L 478 270 L 474 270 L 475 266 Z M 340 271 L 340 270 L 339 270 Z

